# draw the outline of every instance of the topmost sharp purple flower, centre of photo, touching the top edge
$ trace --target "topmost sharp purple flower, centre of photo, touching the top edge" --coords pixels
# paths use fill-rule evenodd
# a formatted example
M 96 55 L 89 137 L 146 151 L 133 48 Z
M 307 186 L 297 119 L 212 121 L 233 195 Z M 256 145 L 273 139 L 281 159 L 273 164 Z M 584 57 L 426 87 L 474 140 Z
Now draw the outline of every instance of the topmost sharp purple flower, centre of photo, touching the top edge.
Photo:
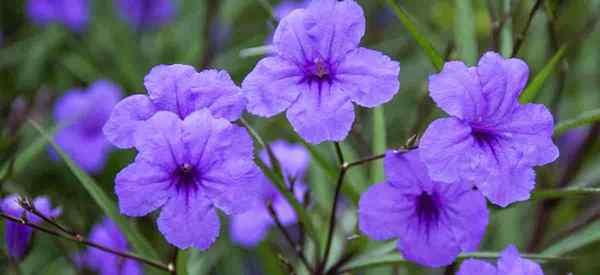
M 295 131 L 311 143 L 339 141 L 356 103 L 375 107 L 398 92 L 400 65 L 358 46 L 365 32 L 353 0 L 314 0 L 284 17 L 263 58 L 242 82 L 248 111 L 271 117 L 287 110 Z

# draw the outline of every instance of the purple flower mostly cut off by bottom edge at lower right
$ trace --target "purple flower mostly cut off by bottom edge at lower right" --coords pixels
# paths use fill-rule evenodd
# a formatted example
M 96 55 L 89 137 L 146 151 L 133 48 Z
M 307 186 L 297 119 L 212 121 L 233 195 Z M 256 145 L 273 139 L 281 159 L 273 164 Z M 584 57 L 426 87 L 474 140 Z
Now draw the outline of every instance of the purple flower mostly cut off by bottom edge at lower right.
M 544 275 L 537 263 L 521 258 L 514 245 L 509 245 L 498 260 L 498 268 L 480 260 L 464 261 L 456 275 Z

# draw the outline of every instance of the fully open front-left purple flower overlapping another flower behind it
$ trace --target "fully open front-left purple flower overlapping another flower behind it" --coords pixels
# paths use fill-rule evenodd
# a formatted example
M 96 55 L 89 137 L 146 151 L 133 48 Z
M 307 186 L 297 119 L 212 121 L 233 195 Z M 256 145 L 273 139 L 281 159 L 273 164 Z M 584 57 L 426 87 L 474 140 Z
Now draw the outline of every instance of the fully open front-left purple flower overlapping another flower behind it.
M 251 209 L 262 174 L 245 129 L 202 109 L 181 120 L 160 111 L 135 133 L 135 162 L 115 179 L 121 213 L 161 208 L 158 229 L 178 248 L 205 250 L 219 235 L 216 208 Z

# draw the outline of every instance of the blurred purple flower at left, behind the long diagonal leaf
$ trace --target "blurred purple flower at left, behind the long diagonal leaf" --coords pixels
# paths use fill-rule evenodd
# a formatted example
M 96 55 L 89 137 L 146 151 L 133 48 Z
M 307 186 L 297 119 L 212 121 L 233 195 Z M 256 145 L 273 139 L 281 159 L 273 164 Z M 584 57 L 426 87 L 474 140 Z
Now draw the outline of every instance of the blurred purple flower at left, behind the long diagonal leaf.
M 121 95 L 119 86 L 100 80 L 86 91 L 68 91 L 54 106 L 54 119 L 60 127 L 56 143 L 88 172 L 102 170 L 113 148 L 102 134 L 102 126 Z

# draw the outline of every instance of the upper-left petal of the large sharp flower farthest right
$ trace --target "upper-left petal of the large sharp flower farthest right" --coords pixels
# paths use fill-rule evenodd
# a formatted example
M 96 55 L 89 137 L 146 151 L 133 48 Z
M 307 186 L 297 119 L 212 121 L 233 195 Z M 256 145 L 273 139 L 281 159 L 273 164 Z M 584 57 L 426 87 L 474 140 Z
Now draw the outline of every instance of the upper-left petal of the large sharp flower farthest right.
M 429 76 L 429 95 L 438 107 L 461 119 L 474 119 L 483 112 L 477 72 L 459 61 L 446 62 L 440 73 Z

